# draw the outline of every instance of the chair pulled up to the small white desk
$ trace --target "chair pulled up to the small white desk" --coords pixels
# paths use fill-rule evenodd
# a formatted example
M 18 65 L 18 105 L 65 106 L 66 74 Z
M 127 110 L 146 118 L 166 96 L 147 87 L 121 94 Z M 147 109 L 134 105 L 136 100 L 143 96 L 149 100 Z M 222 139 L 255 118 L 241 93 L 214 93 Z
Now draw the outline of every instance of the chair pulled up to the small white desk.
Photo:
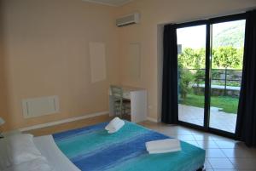
M 131 115 L 131 100 L 124 99 L 123 88 L 113 85 L 111 85 L 110 88 L 113 96 L 114 115 L 119 116 L 120 118 L 122 118 L 125 114 Z

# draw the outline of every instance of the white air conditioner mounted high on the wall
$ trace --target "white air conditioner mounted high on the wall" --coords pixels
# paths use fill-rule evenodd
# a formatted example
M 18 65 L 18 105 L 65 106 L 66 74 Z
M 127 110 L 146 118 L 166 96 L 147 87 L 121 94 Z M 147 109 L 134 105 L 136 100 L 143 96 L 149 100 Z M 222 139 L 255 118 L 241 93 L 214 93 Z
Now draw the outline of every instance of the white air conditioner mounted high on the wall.
M 127 25 L 137 24 L 139 22 L 140 22 L 139 13 L 127 14 L 116 20 L 116 26 L 127 26 Z

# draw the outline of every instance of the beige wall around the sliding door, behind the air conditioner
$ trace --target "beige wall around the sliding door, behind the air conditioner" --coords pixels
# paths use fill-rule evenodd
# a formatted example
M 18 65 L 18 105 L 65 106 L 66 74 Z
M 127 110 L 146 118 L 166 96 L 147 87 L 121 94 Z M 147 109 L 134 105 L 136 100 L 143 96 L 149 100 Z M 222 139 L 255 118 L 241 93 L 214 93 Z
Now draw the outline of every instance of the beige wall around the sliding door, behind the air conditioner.
M 121 77 L 121 83 L 147 88 L 150 105 L 148 116 L 160 119 L 161 60 L 158 56 L 162 47 L 158 46 L 158 25 L 234 14 L 253 7 L 256 7 L 255 0 L 135 0 L 119 8 L 117 16 L 134 11 L 141 14 L 139 25 L 119 28 L 119 56 L 122 68 L 127 68 L 124 61 L 127 58 L 129 43 L 142 44 L 141 79 Z M 121 75 L 127 75 L 125 70 L 121 70 Z

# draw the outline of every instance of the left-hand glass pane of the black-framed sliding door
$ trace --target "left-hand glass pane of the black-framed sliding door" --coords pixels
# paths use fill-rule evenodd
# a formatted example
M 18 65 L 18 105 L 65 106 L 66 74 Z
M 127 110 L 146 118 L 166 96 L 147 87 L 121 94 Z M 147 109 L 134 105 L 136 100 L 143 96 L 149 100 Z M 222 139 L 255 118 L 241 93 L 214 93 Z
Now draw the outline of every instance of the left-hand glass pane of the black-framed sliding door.
M 206 25 L 177 29 L 178 119 L 204 126 Z

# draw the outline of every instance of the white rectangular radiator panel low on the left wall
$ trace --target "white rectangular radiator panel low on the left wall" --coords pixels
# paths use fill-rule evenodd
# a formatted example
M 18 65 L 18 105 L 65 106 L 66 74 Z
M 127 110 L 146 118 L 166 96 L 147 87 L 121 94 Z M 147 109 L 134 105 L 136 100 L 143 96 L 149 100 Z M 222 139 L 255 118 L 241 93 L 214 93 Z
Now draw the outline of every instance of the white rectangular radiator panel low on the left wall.
M 58 113 L 60 111 L 59 98 L 55 95 L 22 100 L 22 109 L 25 118 Z

